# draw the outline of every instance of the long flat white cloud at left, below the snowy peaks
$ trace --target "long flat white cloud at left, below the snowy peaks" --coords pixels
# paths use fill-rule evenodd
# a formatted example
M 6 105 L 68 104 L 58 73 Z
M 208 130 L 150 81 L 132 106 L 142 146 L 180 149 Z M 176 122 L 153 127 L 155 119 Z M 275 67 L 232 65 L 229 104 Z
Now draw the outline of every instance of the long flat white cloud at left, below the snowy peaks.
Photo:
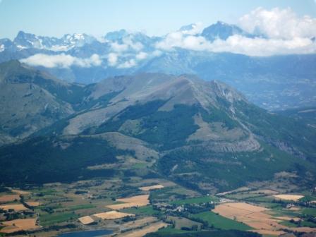
M 91 66 L 100 66 L 102 63 L 97 54 L 93 54 L 87 59 L 80 59 L 67 54 L 35 54 L 26 59 L 20 59 L 20 61 L 30 66 L 43 66 L 45 68 L 69 68 L 71 66 L 90 68 Z

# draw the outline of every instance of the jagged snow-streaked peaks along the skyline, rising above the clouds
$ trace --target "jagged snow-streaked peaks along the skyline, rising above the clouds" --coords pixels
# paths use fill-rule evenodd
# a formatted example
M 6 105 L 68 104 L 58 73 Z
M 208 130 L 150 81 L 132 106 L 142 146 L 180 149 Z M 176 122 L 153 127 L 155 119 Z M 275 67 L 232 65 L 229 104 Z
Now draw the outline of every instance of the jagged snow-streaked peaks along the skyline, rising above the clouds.
M 227 39 L 231 35 L 244 35 L 246 37 L 255 37 L 254 35 L 245 32 L 236 25 L 229 25 L 223 22 L 217 22 L 214 25 L 210 25 L 205 28 L 202 33 L 190 31 L 194 29 L 195 24 L 186 25 L 180 28 L 178 32 L 183 32 L 189 35 L 201 35 L 208 39 L 209 41 L 214 41 L 215 39 Z M 111 42 L 124 42 L 126 37 L 132 38 L 133 42 L 147 43 L 157 42 L 157 40 L 164 37 L 148 37 L 147 35 L 136 32 L 130 33 L 126 30 L 119 30 L 114 32 L 108 32 L 104 37 L 97 39 L 91 35 L 78 34 L 73 35 L 66 34 L 61 38 L 57 37 L 47 37 L 47 36 L 37 36 L 23 31 L 18 32 L 13 41 L 10 39 L 1 39 L 1 51 L 11 49 L 11 51 L 21 51 L 23 49 L 42 49 L 48 51 L 68 51 L 76 47 L 83 47 L 85 44 L 93 44 L 99 42 L 101 44 L 108 45 Z M 149 45 L 147 45 L 149 46 Z M 133 47 L 132 47 L 133 49 Z

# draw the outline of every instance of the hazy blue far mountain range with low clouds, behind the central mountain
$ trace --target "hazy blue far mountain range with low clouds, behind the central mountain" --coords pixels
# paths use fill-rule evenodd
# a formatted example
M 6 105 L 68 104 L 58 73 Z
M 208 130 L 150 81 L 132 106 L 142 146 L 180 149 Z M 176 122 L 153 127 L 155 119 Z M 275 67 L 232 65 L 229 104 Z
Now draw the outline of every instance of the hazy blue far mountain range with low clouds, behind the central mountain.
M 196 24 L 190 24 L 162 37 L 119 30 L 100 38 L 86 34 L 56 38 L 21 31 L 13 41 L 0 39 L 0 62 L 18 59 L 67 82 L 83 84 L 132 73 L 190 73 L 204 80 L 221 80 L 265 109 L 315 106 L 315 54 L 247 56 L 190 49 L 191 42 L 186 42 L 190 37 L 217 42 L 236 35 L 267 38 L 223 22 L 200 32 Z M 166 48 L 173 40 L 183 40 L 188 47 Z

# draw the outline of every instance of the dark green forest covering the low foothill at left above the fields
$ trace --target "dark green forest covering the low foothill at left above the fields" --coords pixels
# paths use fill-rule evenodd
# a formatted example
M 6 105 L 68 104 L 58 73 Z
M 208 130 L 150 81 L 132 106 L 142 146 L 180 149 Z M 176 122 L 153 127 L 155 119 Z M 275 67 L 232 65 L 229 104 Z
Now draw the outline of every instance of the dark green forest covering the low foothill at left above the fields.
M 68 146 L 60 147 L 63 143 Z M 42 184 L 111 177 L 116 174 L 114 169 L 89 170 L 86 167 L 116 162 L 120 154 L 130 152 L 116 150 L 99 138 L 33 138 L 0 148 L 0 166 L 6 167 L 1 171 L 0 183 Z

